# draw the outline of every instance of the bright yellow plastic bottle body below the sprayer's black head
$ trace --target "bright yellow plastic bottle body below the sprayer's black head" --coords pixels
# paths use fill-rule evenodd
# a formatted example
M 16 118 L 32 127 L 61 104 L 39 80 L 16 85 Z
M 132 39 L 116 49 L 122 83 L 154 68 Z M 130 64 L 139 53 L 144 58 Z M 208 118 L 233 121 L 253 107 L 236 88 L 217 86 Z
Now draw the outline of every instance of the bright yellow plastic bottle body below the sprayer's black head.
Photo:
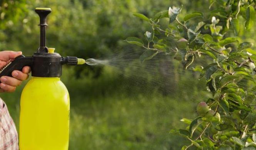
M 69 93 L 58 77 L 32 77 L 20 99 L 20 150 L 68 150 Z

